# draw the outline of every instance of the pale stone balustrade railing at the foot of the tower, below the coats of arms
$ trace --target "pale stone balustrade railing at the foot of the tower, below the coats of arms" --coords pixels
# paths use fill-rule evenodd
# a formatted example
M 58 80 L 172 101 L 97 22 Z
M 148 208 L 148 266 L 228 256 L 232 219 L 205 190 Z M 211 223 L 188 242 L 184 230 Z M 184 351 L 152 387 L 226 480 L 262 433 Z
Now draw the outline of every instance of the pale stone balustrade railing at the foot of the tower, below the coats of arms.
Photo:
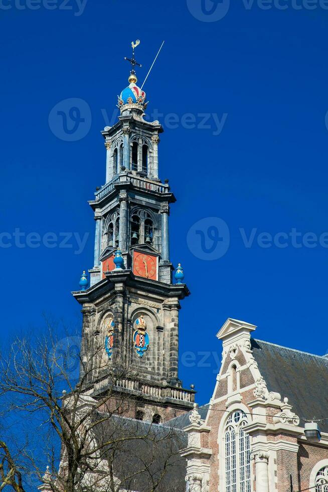
M 183 388 L 178 388 L 176 386 L 160 386 L 153 385 L 145 381 L 137 381 L 131 378 L 124 378 L 116 380 L 114 387 L 124 390 L 132 390 L 140 392 L 145 397 L 156 397 L 156 398 L 170 398 L 173 400 L 178 400 L 184 403 L 194 403 L 195 402 L 195 392 L 186 390 Z M 90 388 L 87 393 L 92 394 L 94 391 L 101 393 L 106 391 L 108 388 L 114 388 L 112 379 L 108 376 L 104 376 L 101 380 L 97 381 L 93 388 Z

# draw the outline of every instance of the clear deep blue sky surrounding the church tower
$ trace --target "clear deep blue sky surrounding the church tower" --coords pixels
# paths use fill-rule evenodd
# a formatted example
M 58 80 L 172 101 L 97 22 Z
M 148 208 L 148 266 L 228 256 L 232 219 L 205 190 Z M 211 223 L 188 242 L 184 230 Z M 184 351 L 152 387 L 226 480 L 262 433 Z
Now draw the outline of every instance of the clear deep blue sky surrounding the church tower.
M 162 135 L 159 159 L 160 176 L 170 179 L 178 199 L 170 219 L 172 261 L 183 264 L 192 292 L 180 318 L 181 356 L 186 362 L 185 352 L 196 353 L 195 363 L 187 357 L 181 365 L 185 386 L 195 384 L 200 403 L 210 398 L 221 357 L 215 335 L 227 317 L 258 325 L 257 338 L 325 353 L 327 248 L 295 248 L 291 238 L 286 248 L 262 248 L 258 234 L 294 228 L 302 241 L 307 232 L 328 231 L 328 10 L 309 10 L 305 0 L 300 9 L 296 0 L 281 0 L 286 10 L 233 0 L 222 19 L 204 22 L 227 0 L 206 0 L 207 14 L 201 0 L 190 0 L 189 8 L 186 0 L 89 0 L 83 12 L 73 0 L 66 7 L 54 0 L 54 10 L 50 4 L 31 10 L 29 1 L 0 2 L 1 229 L 90 236 L 79 255 L 73 239 L 73 248 L 19 248 L 14 239 L 0 248 L 3 342 L 42 329 L 42 312 L 80 326 L 70 292 L 93 265 L 87 200 L 104 183 L 100 131 L 127 85 L 123 58 L 139 38 L 139 80 L 166 41 L 145 85 L 148 113 L 162 112 L 164 123 L 169 113 L 179 119 Z M 68 98 L 90 108 L 90 130 L 76 141 L 62 140 L 49 119 Z M 196 125 L 186 124 L 186 113 Z M 197 128 L 202 113 L 215 115 L 210 128 Z M 215 118 L 223 115 L 215 135 Z M 227 253 L 212 261 L 197 257 L 199 245 L 187 244 L 189 229 L 207 217 L 223 219 L 230 231 Z M 204 234 L 211 221 L 202 222 Z M 256 229 L 250 248 L 240 228 L 247 237 Z M 210 352 L 205 366 L 204 351 Z

